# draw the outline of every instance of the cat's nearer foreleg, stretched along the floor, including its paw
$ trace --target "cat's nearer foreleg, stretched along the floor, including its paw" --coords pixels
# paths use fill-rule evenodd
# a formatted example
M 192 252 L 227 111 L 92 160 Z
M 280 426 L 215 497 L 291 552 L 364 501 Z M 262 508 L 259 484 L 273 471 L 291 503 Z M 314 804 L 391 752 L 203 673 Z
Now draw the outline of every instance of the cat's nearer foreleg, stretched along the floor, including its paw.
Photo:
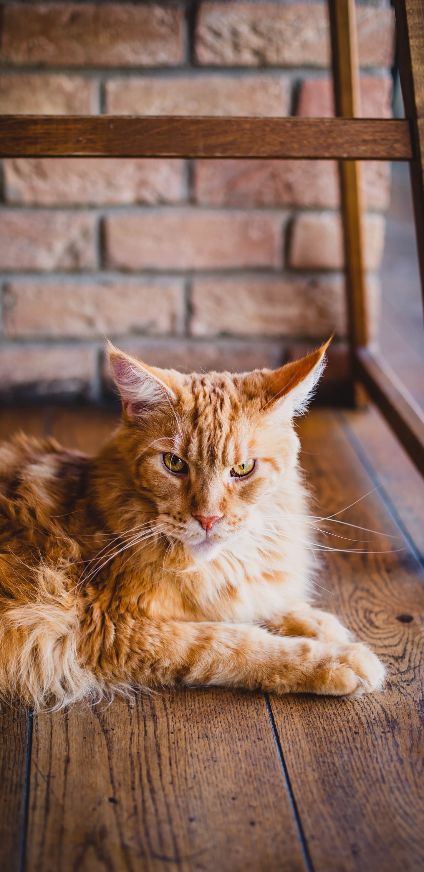
M 365 645 L 273 636 L 250 624 L 143 622 L 116 651 L 144 686 L 222 685 L 335 696 L 373 691 L 385 669 Z

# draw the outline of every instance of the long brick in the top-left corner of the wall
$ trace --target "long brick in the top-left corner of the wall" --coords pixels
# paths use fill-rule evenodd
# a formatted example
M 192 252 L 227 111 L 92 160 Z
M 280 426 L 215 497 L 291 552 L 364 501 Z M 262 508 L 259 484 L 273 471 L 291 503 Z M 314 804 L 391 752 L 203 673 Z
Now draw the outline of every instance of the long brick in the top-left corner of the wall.
M 9 64 L 150 66 L 184 59 L 181 9 L 133 3 L 19 3 L 3 8 Z

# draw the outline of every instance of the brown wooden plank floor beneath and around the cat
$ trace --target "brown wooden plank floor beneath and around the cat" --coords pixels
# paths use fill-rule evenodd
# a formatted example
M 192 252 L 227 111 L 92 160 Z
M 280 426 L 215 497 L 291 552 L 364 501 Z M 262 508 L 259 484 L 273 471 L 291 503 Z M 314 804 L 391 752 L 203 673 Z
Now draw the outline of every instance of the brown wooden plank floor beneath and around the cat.
M 93 452 L 115 420 L 9 410 L 0 436 L 22 426 Z M 357 525 L 326 542 L 360 551 L 323 555 L 318 601 L 382 657 L 386 690 L 3 709 L 4 872 L 422 872 L 424 482 L 373 409 L 317 410 L 300 433 L 317 514 Z

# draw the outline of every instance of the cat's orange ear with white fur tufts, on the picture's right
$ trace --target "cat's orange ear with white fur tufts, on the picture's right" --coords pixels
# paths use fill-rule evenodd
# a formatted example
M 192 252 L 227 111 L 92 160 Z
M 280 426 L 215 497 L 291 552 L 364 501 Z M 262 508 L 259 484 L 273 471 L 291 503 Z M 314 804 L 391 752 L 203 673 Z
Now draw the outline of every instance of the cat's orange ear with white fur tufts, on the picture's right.
M 263 411 L 280 411 L 284 419 L 304 412 L 325 367 L 325 351 L 332 339 L 305 358 L 278 370 L 263 372 Z

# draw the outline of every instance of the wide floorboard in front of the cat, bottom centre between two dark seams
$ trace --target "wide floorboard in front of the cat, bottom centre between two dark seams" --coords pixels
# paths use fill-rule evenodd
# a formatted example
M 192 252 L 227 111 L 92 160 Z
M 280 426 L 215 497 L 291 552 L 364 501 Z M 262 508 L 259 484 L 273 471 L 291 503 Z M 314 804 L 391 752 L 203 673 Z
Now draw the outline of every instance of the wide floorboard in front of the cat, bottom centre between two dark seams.
M 27 872 L 304 872 L 262 696 L 163 691 L 34 724 Z

